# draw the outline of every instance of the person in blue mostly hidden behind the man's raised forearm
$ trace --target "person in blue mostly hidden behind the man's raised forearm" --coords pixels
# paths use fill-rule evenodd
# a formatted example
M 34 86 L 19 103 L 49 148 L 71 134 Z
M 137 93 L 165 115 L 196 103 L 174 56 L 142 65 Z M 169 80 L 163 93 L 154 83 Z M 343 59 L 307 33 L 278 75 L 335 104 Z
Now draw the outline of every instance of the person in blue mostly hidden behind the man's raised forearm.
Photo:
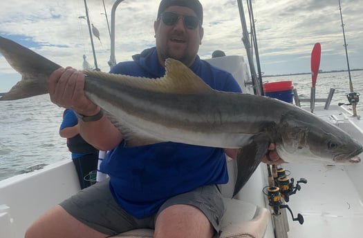
M 59 135 L 67 139 L 67 146 L 72 153 L 72 160 L 77 170 L 81 188 L 91 186 L 91 179 L 93 178 L 90 172 L 97 170 L 98 150 L 80 135 L 80 125 L 73 110 L 64 110 Z

